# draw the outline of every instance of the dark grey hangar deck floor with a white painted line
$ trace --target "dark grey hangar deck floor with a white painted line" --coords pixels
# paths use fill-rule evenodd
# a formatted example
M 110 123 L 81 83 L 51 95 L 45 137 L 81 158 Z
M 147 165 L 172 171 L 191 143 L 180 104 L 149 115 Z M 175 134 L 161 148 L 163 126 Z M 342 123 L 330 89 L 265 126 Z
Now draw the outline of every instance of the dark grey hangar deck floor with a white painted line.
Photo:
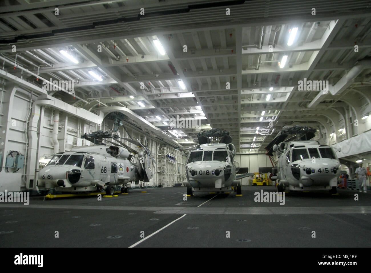
M 287 193 L 285 205 L 279 205 L 255 202 L 254 192 L 261 189 L 275 191 L 274 186 L 243 186 L 243 196 L 198 193 L 183 201 L 186 188 L 174 187 L 131 190 L 102 201 L 32 197 L 27 206 L 0 203 L 0 245 L 129 247 L 144 231 L 146 238 L 136 247 L 371 246 L 370 192 Z

